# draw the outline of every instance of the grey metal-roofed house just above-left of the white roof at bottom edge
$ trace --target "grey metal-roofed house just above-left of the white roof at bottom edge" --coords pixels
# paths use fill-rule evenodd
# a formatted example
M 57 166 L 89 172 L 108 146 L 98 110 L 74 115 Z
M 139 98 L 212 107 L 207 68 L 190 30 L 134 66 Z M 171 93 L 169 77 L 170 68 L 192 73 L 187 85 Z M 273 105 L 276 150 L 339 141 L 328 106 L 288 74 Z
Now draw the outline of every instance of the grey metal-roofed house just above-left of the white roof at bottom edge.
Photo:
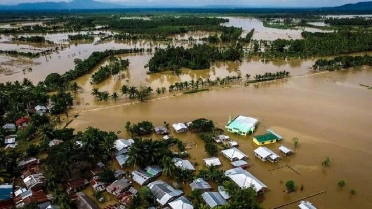
M 169 202 L 175 200 L 183 194 L 183 191 L 176 190 L 168 183 L 157 180 L 148 185 L 151 193 L 156 198 L 156 201 L 162 206 L 167 205 Z

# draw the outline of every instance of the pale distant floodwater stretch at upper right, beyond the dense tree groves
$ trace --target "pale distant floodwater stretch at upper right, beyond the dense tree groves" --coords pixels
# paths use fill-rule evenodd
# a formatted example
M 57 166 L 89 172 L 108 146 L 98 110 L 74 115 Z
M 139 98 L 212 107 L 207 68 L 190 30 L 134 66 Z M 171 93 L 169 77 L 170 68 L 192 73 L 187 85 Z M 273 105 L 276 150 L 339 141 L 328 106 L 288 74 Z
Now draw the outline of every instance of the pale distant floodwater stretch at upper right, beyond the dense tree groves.
M 253 28 L 255 32 L 252 36 L 254 40 L 276 40 L 280 39 L 303 39 L 301 33 L 303 31 L 309 32 L 325 32 L 320 29 L 315 28 L 298 28 L 297 30 L 285 30 L 277 28 L 267 28 L 263 26 L 263 22 L 259 19 L 254 18 L 239 18 L 239 17 L 225 17 L 229 19 L 229 22 L 224 23 L 225 26 L 235 26 L 243 28 L 246 35 L 247 32 L 251 31 Z

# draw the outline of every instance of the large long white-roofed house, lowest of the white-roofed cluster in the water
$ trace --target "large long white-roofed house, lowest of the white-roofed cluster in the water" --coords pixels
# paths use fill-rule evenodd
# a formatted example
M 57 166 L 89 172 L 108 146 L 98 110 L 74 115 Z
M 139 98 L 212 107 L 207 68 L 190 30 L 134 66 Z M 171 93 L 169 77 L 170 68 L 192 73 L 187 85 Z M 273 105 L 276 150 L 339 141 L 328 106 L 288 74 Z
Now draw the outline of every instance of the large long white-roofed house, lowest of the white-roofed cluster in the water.
M 264 183 L 240 167 L 227 170 L 225 175 L 234 181 L 241 189 L 253 186 L 257 194 L 262 194 L 264 190 L 267 189 Z

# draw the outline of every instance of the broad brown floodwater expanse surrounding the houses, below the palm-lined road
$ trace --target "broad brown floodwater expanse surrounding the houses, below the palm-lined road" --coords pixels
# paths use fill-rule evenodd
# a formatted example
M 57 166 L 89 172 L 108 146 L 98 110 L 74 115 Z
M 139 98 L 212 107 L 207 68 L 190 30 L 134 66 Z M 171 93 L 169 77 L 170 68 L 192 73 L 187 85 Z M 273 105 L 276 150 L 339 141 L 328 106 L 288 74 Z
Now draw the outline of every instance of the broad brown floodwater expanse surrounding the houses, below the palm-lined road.
M 274 152 L 278 153 L 279 145 L 294 149 L 291 143 L 293 137 L 298 137 L 300 144 L 295 149 L 295 155 L 282 157 L 279 163 L 273 164 L 254 157 L 256 145 L 251 137 L 229 134 L 232 140 L 239 143 L 239 149 L 249 156 L 248 171 L 269 187 L 269 191 L 260 197 L 265 208 L 320 191 L 326 192 L 308 198 L 318 208 L 370 208 L 372 164 L 363 159 L 372 157 L 369 149 L 372 146 L 372 91 L 359 84 L 372 86 L 371 78 L 372 68 L 369 67 L 297 76 L 247 87 L 219 88 L 192 95 L 168 96 L 142 103 L 113 104 L 112 107 L 81 112 L 69 127 L 76 131 L 88 126 L 105 131 L 121 131 L 119 138 L 128 139 L 124 128 L 127 121 L 149 120 L 157 126 L 164 121 L 172 124 L 208 118 L 216 126 L 224 128 L 230 114 L 256 117 L 260 124 L 255 134 L 263 134 L 265 129 L 271 128 L 284 137 L 282 142 L 268 145 Z M 172 131 L 172 135 L 184 142 L 196 143 L 194 148 L 188 150 L 189 160 L 197 162 L 198 168 L 201 168 L 202 159 L 208 157 L 201 139 L 192 133 L 175 134 Z M 149 137 L 161 139 L 156 135 Z M 321 162 L 327 156 L 331 159 L 331 165 L 323 168 Z M 218 157 L 224 170 L 231 168 L 228 160 L 220 154 Z M 269 171 L 286 164 L 300 174 L 288 168 Z M 115 162 L 113 165 L 117 166 Z M 297 184 L 297 192 L 287 194 L 283 189 L 285 182 L 290 179 Z M 340 180 L 346 182 L 342 189 L 337 185 Z M 299 189 L 301 185 L 303 191 Z M 187 184 L 182 186 L 188 187 Z M 350 195 L 351 189 L 356 191 L 356 195 Z M 297 208 L 297 205 L 285 208 Z

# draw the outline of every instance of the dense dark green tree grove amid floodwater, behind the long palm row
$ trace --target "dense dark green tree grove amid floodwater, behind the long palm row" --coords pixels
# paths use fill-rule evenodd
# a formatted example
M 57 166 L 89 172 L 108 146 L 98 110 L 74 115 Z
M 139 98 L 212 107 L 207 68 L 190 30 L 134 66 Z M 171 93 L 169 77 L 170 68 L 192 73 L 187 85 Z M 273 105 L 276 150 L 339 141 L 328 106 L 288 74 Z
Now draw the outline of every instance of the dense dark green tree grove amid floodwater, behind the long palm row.
M 172 70 L 179 72 L 180 68 L 206 69 L 215 61 L 236 61 L 243 57 L 241 46 L 220 50 L 215 46 L 194 45 L 192 48 L 168 46 L 166 49 L 156 48 L 154 56 L 145 65 L 150 72 Z

